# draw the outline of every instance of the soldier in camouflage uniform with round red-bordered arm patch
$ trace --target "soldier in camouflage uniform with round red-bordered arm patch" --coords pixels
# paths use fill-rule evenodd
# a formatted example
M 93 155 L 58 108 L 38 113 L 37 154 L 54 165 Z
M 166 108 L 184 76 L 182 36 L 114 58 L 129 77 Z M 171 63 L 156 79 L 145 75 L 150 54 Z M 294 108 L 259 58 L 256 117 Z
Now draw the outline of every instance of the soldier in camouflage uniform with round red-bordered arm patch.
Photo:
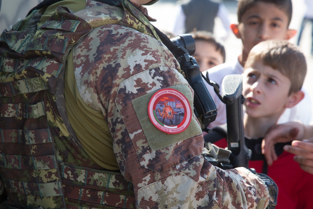
M 4 207 L 268 205 L 263 180 L 203 159 L 193 91 L 141 6 L 149 1 L 44 1 L 3 32 Z M 184 110 L 182 125 L 154 117 L 164 98 Z

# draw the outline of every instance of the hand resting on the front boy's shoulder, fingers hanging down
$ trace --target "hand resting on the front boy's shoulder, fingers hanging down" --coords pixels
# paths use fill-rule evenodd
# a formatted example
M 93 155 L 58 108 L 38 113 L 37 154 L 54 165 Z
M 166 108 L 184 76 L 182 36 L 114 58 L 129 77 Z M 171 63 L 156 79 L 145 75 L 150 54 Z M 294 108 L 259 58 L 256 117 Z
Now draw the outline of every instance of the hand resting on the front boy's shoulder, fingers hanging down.
M 304 135 L 304 126 L 300 122 L 288 122 L 275 125 L 269 129 L 262 141 L 262 154 L 264 154 L 268 165 L 273 165 L 277 160 L 275 144 L 290 142 L 302 139 Z

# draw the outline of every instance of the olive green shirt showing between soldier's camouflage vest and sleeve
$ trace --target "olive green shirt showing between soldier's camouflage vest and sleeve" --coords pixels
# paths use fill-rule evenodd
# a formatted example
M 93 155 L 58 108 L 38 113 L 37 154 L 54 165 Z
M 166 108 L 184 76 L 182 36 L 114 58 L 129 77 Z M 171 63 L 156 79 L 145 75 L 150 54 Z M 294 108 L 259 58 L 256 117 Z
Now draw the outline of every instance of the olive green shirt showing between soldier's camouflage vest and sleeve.
M 50 5 L 38 22 L 38 27 L 48 20 L 58 6 L 66 6 L 73 12 L 85 8 L 86 0 L 64 0 Z M 107 170 L 119 170 L 113 152 L 112 137 L 101 111 L 87 106 L 78 93 L 74 76 L 73 52 L 68 55 L 64 94 L 67 115 L 85 152 L 99 166 Z

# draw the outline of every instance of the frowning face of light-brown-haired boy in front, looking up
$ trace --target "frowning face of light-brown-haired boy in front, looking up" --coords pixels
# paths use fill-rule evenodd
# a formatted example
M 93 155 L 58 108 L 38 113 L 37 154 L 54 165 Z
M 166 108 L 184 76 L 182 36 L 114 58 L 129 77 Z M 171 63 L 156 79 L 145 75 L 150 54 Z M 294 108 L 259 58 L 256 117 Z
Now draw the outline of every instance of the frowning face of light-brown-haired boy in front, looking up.
M 249 117 L 280 116 L 292 99 L 291 82 L 280 71 L 257 61 L 243 73 L 245 111 Z

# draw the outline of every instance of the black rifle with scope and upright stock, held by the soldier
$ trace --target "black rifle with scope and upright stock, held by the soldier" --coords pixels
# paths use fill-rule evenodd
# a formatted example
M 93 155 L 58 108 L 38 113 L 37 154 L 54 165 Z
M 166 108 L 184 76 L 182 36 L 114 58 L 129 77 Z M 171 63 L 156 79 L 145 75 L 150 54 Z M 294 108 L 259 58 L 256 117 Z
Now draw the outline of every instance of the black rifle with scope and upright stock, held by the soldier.
M 155 28 L 156 29 L 156 28 Z M 214 91 L 222 102 L 226 104 L 227 117 L 227 144 L 228 149 L 232 151 L 229 160 L 233 168 L 248 167 L 248 162 L 251 157 L 251 150 L 247 148 L 244 140 L 244 125 L 243 125 L 243 109 L 242 104 L 244 97 L 242 95 L 242 77 L 241 75 L 228 75 L 222 82 L 222 95 L 219 94 L 219 87 L 216 83 L 211 82 L 208 78 L 208 73 L 202 75 L 197 61 L 191 55 L 195 51 L 195 42 L 190 38 L 190 34 L 179 35 L 168 42 L 168 38 L 156 29 L 156 32 L 161 36 L 163 43 L 171 50 L 175 58 L 178 60 L 182 75 L 186 78 L 189 85 L 195 93 L 194 97 L 194 112 L 202 122 L 203 130 L 209 130 L 206 127 L 216 118 L 216 105 L 208 92 L 203 80 L 214 87 Z M 165 36 L 165 37 L 164 37 Z M 186 38 L 188 37 L 188 38 Z M 190 50 L 188 50 L 188 48 Z M 203 79 L 202 79 L 203 78 Z M 220 164 L 219 164 L 220 165 Z M 268 209 L 274 209 L 277 205 L 278 187 L 275 182 L 267 175 L 256 173 L 255 175 L 261 178 L 268 187 L 270 199 Z

